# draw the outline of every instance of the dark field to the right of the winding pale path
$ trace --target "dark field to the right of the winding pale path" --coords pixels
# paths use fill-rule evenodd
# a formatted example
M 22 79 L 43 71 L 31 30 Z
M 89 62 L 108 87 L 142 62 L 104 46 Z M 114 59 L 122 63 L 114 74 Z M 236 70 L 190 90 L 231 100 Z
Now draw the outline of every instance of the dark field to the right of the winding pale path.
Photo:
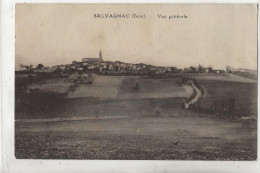
M 205 95 L 199 102 L 202 109 L 221 112 L 221 104 L 235 101 L 234 113 L 239 116 L 257 115 L 257 84 L 227 81 L 199 81 Z

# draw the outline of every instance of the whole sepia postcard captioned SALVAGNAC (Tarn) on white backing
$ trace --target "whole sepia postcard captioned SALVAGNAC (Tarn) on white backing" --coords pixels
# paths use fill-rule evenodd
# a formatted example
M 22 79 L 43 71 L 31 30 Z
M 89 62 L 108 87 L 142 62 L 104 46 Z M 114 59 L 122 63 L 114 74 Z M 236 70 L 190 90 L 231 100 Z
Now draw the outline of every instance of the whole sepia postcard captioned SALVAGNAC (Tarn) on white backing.
M 16 159 L 257 160 L 257 4 L 15 5 Z

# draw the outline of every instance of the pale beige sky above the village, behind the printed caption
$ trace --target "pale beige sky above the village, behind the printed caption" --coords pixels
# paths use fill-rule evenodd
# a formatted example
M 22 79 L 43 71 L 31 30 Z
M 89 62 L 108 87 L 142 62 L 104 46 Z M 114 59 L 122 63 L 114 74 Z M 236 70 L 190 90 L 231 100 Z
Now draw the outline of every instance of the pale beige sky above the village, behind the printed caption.
M 94 14 L 145 18 L 94 18 Z M 171 15 L 187 18 L 169 19 Z M 20 64 L 70 64 L 98 57 L 100 50 L 106 61 L 257 69 L 257 6 L 16 4 L 16 69 Z

